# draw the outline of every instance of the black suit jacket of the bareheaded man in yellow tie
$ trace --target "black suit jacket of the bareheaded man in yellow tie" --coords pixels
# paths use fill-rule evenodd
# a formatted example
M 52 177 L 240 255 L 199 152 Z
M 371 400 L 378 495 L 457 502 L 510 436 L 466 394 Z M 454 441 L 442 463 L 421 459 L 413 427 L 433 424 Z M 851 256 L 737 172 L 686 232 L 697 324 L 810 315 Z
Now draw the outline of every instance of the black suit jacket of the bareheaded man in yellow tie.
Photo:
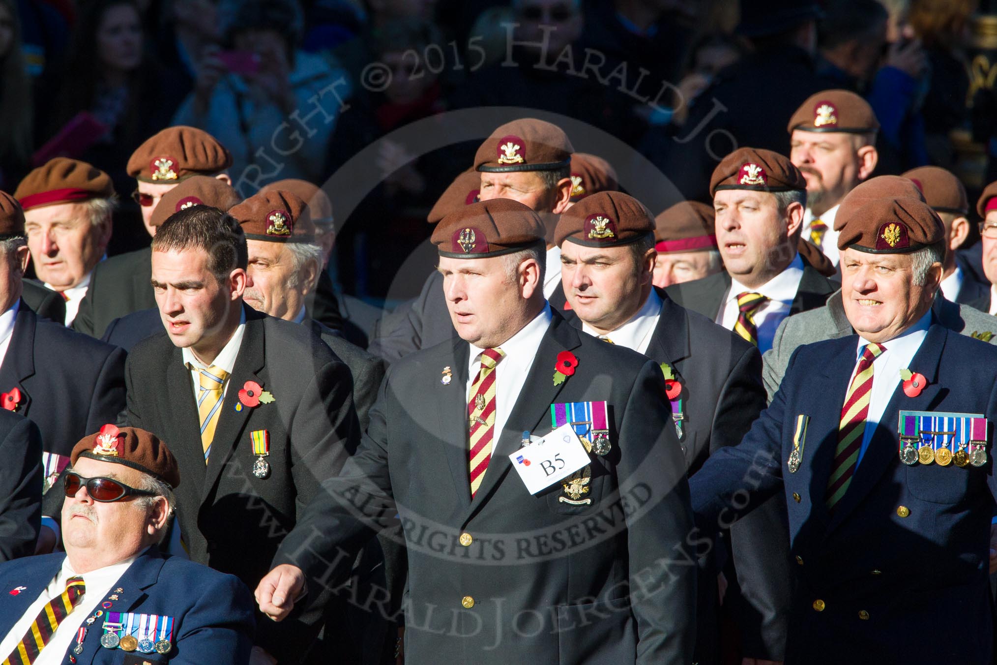
M 255 588 L 321 481 L 355 448 L 358 426 L 350 371 L 329 347 L 305 326 L 249 307 L 245 312 L 206 467 L 190 372 L 165 331 L 133 348 L 126 376 L 128 424 L 163 439 L 179 465 L 177 517 L 190 558 Z M 239 404 L 246 381 L 258 383 L 274 402 Z M 258 430 L 270 440 L 265 479 L 251 473 L 250 433 Z M 256 643 L 281 662 L 297 662 L 319 619 L 316 610 L 279 624 L 261 620 Z

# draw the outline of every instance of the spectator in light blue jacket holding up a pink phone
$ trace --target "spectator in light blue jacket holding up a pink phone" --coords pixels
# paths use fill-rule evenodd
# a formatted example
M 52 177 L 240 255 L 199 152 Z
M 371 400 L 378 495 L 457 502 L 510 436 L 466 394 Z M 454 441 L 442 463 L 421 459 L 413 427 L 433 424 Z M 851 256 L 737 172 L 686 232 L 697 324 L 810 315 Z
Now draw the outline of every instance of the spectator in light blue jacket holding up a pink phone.
M 349 85 L 323 58 L 299 49 L 301 7 L 296 0 L 222 0 L 218 20 L 223 49 L 207 51 L 173 124 L 200 128 L 229 149 L 242 195 L 286 177 L 321 182 Z

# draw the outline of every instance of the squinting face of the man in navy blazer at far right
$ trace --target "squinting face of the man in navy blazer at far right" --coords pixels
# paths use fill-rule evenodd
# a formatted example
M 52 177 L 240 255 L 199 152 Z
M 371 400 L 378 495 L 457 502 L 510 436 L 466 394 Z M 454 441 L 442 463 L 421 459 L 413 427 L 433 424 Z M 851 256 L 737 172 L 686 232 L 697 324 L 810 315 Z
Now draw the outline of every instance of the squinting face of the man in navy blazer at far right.
M 913 283 L 910 254 L 870 254 L 848 247 L 841 252 L 841 300 L 851 327 L 870 342 L 886 342 L 909 328 L 931 307 L 941 263 L 925 283 Z

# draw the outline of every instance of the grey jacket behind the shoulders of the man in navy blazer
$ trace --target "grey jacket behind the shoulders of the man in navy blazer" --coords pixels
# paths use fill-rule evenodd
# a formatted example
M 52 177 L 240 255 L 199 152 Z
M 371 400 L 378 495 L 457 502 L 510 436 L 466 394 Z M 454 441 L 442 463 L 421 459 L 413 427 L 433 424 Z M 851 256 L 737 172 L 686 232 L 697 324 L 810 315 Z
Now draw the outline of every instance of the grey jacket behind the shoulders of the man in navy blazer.
M 946 300 L 940 292 L 931 311 L 938 322 L 949 330 L 974 337 L 976 333 L 992 332 L 989 343 L 997 344 L 997 316 L 984 314 L 969 305 L 957 305 Z M 840 289 L 831 294 L 824 307 L 784 319 L 776 329 L 772 348 L 762 356 L 762 379 L 769 393 L 769 402 L 776 396 L 797 347 L 852 334 L 851 324 L 844 316 Z

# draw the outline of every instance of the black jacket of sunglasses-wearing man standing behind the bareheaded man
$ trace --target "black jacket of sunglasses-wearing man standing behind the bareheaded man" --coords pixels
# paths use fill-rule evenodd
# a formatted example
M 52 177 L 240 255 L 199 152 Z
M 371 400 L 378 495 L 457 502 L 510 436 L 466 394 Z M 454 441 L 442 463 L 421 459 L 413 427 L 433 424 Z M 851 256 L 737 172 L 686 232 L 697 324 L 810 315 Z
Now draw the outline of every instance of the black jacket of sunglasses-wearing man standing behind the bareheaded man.
M 90 273 L 90 286 L 73 319 L 73 330 L 100 338 L 115 319 L 156 307 L 152 280 L 152 247 L 101 261 Z

